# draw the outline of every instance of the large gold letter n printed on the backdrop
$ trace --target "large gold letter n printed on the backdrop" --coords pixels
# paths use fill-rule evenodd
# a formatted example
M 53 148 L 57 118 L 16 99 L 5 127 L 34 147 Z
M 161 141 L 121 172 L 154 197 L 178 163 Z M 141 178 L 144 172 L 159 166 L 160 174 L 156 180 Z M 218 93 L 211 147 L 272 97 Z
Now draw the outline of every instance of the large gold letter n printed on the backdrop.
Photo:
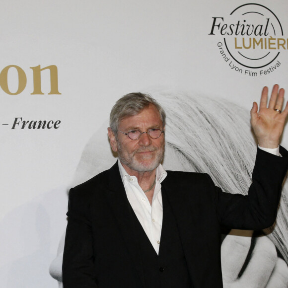
M 48 95 L 51 94 L 61 94 L 58 90 L 58 70 L 57 66 L 50 65 L 44 68 L 40 68 L 40 65 L 35 67 L 30 67 L 33 70 L 33 85 L 34 85 L 34 91 L 31 93 L 31 95 L 34 94 L 44 94 L 41 91 L 41 71 L 49 69 L 50 70 L 50 87 L 51 90 L 48 93 Z

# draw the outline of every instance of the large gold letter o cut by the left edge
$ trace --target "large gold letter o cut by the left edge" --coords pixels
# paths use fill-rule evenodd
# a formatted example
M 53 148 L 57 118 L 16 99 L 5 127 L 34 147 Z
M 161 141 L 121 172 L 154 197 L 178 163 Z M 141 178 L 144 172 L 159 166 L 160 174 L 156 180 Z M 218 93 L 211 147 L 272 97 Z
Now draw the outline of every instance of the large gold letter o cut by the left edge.
M 8 71 L 10 68 L 15 68 L 18 72 L 18 90 L 15 93 L 10 92 L 8 87 Z M 27 77 L 23 69 L 16 65 L 6 66 L 0 73 L 0 86 L 2 90 L 10 95 L 20 94 L 26 87 Z

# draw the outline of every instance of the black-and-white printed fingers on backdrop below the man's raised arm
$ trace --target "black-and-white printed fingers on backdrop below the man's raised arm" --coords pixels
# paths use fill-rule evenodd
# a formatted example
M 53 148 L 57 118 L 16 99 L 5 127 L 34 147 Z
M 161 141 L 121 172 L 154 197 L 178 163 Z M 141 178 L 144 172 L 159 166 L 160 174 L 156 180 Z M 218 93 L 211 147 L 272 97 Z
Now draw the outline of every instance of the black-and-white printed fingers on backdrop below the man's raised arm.
M 233 231 L 239 230 L 231 230 L 232 233 Z M 244 232 L 251 236 L 252 232 Z M 277 257 L 275 245 L 267 236 L 257 238 L 249 263 L 238 278 L 250 248 L 250 239 L 251 237 L 237 235 L 227 235 L 224 239 L 221 245 L 223 287 L 288 287 L 288 266 L 283 259 Z

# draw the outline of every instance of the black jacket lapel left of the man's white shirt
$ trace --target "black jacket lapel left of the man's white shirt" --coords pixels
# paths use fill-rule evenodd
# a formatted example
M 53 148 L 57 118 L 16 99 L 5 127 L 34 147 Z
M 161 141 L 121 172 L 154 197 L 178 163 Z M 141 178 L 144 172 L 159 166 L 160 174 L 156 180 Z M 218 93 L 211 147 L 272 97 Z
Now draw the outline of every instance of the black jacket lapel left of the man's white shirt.
M 145 287 L 142 257 L 140 255 L 139 244 L 133 227 L 133 210 L 125 192 L 118 162 L 109 170 L 108 179 L 106 196 L 108 203 L 111 206 L 111 212 L 114 214 L 116 222 L 120 227 L 122 237 L 126 243 L 126 248 L 138 272 L 141 283 L 143 287 Z

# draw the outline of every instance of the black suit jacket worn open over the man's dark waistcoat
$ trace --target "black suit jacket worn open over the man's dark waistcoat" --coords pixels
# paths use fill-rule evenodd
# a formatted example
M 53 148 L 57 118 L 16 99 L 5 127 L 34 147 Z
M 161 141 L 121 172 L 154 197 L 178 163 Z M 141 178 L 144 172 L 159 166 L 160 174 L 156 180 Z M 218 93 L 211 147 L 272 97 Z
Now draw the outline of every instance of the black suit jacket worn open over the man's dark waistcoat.
M 175 216 L 191 282 L 221 288 L 220 227 L 259 230 L 277 215 L 288 168 L 283 157 L 257 151 L 249 196 L 223 193 L 210 176 L 167 171 L 161 191 Z M 144 288 L 131 208 L 118 164 L 71 189 L 63 258 L 64 288 Z

